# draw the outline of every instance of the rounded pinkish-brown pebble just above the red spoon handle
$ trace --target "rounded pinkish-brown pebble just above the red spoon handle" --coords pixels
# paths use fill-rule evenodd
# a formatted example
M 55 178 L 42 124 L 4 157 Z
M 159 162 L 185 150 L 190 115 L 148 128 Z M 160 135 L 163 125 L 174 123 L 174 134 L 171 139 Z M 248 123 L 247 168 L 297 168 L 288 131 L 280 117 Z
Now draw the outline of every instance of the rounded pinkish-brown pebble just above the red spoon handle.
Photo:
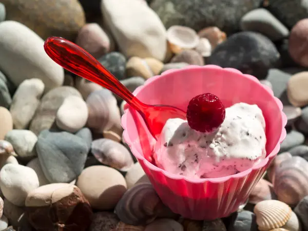
M 97 23 L 88 23 L 78 32 L 76 44 L 98 59 L 110 50 L 110 39 Z

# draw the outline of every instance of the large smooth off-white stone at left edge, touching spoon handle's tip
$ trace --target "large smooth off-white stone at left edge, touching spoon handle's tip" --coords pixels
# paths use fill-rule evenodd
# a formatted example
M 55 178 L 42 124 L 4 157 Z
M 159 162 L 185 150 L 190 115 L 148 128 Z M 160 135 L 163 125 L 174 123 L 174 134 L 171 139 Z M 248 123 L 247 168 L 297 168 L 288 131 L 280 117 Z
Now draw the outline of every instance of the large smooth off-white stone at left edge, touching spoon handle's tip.
M 15 86 L 26 79 L 41 79 L 45 90 L 63 84 L 63 68 L 46 54 L 44 41 L 35 32 L 21 23 L 4 21 L 0 35 L 0 69 Z

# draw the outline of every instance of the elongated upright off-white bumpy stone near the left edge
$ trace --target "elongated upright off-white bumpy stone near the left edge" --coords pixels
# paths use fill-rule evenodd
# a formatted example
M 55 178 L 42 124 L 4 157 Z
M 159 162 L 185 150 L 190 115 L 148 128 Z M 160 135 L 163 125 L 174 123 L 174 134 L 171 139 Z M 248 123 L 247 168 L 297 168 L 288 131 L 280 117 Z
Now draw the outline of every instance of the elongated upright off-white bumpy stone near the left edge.
M 38 105 L 41 103 L 40 99 L 44 89 L 45 85 L 40 79 L 24 80 L 18 86 L 10 107 L 14 128 L 28 128 Z

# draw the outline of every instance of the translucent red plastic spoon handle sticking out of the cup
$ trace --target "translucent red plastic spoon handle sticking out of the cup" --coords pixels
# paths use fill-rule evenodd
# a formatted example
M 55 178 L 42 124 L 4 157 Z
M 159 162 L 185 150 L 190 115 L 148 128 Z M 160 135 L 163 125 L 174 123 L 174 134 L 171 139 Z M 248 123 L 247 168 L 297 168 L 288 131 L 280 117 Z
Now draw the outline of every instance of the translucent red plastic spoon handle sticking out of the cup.
M 62 37 L 49 37 L 44 44 L 45 52 L 57 64 L 91 82 L 99 84 L 119 95 L 135 110 L 141 112 L 144 104 L 117 80 L 92 55 L 78 45 Z

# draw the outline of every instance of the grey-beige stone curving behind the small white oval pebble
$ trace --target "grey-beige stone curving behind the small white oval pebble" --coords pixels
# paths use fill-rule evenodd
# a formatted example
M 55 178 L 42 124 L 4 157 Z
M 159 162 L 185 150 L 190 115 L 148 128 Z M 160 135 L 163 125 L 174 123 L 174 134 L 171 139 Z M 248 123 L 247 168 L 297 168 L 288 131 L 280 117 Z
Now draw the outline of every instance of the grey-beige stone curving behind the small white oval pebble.
M 30 123 L 29 130 L 37 136 L 41 131 L 50 129 L 54 125 L 57 110 L 63 104 L 65 98 L 70 95 L 82 98 L 79 91 L 70 86 L 57 87 L 44 94 Z

